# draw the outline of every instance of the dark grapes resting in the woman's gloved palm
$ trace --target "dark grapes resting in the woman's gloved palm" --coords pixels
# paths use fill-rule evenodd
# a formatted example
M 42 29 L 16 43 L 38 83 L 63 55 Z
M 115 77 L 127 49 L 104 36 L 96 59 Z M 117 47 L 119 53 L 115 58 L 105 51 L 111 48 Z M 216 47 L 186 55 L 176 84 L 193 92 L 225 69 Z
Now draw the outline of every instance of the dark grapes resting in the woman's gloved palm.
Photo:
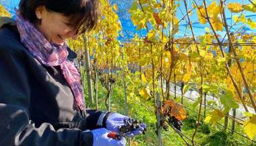
M 125 125 L 122 125 L 121 127 L 119 127 L 120 135 L 125 135 L 131 131 L 135 131 L 135 129 L 139 128 L 141 124 L 141 122 L 132 118 L 123 120 L 123 123 L 125 123 Z M 145 134 L 145 131 L 147 131 L 147 129 L 143 130 L 143 135 Z

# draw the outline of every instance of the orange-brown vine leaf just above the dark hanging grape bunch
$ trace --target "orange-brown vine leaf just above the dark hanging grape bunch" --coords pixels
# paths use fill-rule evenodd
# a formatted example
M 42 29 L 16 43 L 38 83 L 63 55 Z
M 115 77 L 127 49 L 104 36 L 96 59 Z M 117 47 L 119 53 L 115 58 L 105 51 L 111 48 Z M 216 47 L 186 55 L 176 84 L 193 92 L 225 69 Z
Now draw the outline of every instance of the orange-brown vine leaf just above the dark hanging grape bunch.
M 170 115 L 170 117 L 173 116 L 179 121 L 183 121 L 183 119 L 187 117 L 184 106 L 171 99 L 164 101 L 162 111 L 164 115 Z

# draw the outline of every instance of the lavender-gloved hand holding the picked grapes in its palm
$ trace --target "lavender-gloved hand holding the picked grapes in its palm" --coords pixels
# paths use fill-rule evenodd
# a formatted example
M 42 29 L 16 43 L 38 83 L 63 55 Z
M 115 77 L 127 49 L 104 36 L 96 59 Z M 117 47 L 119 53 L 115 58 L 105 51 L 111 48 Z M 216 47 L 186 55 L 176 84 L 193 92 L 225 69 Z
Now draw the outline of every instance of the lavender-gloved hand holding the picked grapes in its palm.
M 106 119 L 106 129 L 119 133 L 119 128 L 125 125 L 124 120 L 129 120 L 129 117 L 121 115 L 119 113 L 111 113 Z M 135 135 L 140 135 L 146 129 L 146 124 L 141 123 L 137 129 L 125 133 L 123 136 L 134 137 Z

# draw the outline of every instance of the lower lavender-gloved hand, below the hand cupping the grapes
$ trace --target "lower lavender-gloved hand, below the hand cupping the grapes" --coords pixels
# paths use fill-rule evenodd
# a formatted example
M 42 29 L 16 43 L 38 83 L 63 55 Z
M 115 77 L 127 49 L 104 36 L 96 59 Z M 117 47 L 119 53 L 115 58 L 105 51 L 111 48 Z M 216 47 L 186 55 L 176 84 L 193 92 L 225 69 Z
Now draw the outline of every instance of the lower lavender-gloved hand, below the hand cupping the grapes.
M 94 129 L 90 131 L 94 137 L 93 146 L 125 146 L 126 140 L 124 137 L 121 138 L 121 140 L 116 140 L 108 137 L 108 133 L 111 131 L 108 131 L 107 129 Z

